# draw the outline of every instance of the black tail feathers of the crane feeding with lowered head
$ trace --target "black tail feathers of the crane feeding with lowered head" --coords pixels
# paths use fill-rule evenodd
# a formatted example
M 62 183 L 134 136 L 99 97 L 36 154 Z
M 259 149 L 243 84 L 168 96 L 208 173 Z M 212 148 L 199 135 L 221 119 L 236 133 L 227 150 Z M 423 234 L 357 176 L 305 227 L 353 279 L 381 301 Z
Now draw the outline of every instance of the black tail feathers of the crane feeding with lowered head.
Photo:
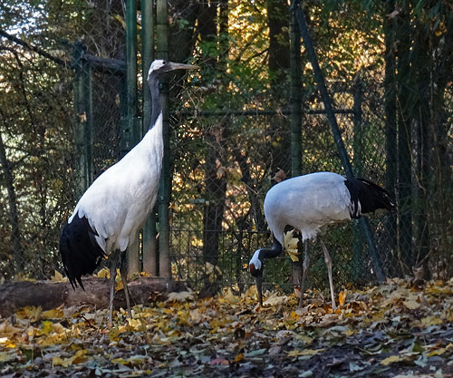
M 368 179 L 346 179 L 344 185 L 351 193 L 352 218 L 360 218 L 361 214 L 371 213 L 377 209 L 393 212 L 396 208 L 390 193 Z M 358 206 L 360 203 L 360 208 Z

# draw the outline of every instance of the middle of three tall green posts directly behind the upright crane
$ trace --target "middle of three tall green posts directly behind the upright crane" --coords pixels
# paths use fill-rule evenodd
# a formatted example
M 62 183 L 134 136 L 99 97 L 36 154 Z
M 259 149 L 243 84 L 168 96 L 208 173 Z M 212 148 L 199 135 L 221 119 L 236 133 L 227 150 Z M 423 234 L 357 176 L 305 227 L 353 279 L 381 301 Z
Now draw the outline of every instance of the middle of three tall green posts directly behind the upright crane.
M 153 1 L 141 1 L 141 74 L 143 78 L 143 124 L 142 135 L 149 129 L 151 120 L 151 93 L 147 78 L 149 66 L 154 60 Z M 158 256 L 156 242 L 156 209 L 153 209 L 143 227 L 142 268 L 152 276 L 158 276 Z

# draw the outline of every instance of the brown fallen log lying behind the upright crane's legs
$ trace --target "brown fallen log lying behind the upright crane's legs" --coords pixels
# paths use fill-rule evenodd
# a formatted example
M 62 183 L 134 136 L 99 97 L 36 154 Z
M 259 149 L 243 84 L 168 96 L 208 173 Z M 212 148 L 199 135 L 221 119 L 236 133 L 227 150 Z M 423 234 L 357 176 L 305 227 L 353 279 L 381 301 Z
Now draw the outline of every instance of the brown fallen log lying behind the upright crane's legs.
M 91 305 L 95 308 L 106 308 L 109 305 L 110 280 L 107 278 L 87 277 L 83 279 L 82 288 L 75 290 L 69 282 L 23 281 L 8 282 L 0 286 L 0 315 L 9 316 L 19 308 L 27 305 L 41 306 L 45 310 L 60 305 Z M 157 293 L 165 295 L 180 290 L 179 283 L 159 278 L 141 276 L 129 283 L 131 305 L 149 303 L 151 296 Z M 126 308 L 124 290 L 115 294 L 114 308 Z

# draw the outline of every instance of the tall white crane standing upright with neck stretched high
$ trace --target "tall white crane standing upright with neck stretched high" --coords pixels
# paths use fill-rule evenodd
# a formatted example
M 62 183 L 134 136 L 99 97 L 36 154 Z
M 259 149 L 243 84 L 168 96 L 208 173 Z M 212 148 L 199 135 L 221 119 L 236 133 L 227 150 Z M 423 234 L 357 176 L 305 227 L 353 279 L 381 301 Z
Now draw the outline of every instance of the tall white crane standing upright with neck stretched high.
M 197 66 L 156 60 L 148 73 L 152 115 L 149 131 L 120 161 L 94 180 L 82 195 L 60 237 L 63 267 L 72 287 L 82 287 L 82 276 L 92 274 L 102 257 L 111 260 L 110 315 L 113 313 L 116 269 L 124 286 L 130 312 L 127 248 L 156 202 L 162 167 L 162 109 L 159 78 L 163 73 Z

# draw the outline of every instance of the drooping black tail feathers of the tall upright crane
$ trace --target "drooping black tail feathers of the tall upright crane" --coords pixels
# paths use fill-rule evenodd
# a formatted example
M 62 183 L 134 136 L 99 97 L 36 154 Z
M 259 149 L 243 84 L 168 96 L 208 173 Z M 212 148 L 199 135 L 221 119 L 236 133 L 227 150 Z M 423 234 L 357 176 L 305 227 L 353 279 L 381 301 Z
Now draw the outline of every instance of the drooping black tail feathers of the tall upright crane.
M 82 276 L 89 275 L 99 267 L 104 251 L 94 238 L 98 234 L 85 217 L 76 214 L 71 223 L 64 225 L 60 236 L 60 255 L 64 273 L 75 290 L 77 283 L 82 287 Z

